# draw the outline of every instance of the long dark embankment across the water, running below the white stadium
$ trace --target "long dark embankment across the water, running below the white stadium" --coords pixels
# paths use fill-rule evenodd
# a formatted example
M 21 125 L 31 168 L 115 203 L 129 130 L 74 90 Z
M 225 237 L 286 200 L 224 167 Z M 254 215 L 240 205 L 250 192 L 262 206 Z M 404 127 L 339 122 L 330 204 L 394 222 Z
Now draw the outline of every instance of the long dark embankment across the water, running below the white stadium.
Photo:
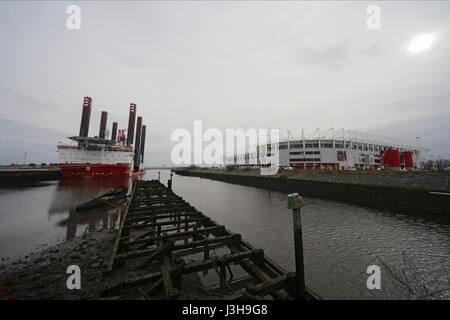
M 284 193 L 298 192 L 383 211 L 450 215 L 448 173 L 284 170 L 274 176 L 261 176 L 258 170 L 174 172 Z

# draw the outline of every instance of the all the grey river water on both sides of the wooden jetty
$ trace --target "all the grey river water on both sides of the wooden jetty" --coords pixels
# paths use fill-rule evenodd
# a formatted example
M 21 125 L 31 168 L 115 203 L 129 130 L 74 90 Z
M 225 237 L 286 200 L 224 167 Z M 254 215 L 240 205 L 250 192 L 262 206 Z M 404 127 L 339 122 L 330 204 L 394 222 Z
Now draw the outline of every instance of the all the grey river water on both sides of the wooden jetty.
M 144 179 L 157 178 L 147 171 Z M 167 182 L 169 171 L 161 171 Z M 113 228 L 116 209 L 74 207 L 129 179 L 82 179 L 0 189 L 0 259 L 45 244 Z M 174 176 L 174 191 L 191 205 L 294 271 L 292 213 L 286 195 L 198 177 Z M 375 211 L 306 198 L 302 210 L 305 278 L 325 299 L 449 299 L 450 218 Z M 381 289 L 367 288 L 367 267 L 381 270 Z

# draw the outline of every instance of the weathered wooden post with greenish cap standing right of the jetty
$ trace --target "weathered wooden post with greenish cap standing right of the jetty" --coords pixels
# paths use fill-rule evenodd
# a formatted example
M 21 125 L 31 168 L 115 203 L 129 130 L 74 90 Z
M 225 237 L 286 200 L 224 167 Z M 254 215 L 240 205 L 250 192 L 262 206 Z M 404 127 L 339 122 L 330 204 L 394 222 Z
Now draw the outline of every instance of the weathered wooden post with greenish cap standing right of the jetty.
M 297 299 L 303 300 L 305 298 L 305 266 L 303 262 L 301 208 L 305 205 L 305 201 L 298 193 L 290 193 L 287 198 L 288 208 L 292 209 L 294 220 L 295 291 Z

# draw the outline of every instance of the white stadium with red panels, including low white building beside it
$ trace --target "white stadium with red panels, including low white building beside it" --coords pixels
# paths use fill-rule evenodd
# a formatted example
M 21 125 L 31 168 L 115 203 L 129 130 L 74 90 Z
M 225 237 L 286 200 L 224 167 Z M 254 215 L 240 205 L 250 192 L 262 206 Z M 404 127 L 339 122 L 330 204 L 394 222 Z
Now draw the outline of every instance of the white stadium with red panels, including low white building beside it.
M 271 156 L 267 146 L 267 156 Z M 317 129 L 312 137 L 289 137 L 278 143 L 279 166 L 309 169 L 419 169 L 420 142 L 396 139 L 353 130 L 323 133 Z M 260 150 L 258 147 L 257 150 Z M 256 160 L 257 159 L 257 160 Z M 258 166 L 267 163 L 264 156 L 246 153 L 227 158 L 228 166 Z

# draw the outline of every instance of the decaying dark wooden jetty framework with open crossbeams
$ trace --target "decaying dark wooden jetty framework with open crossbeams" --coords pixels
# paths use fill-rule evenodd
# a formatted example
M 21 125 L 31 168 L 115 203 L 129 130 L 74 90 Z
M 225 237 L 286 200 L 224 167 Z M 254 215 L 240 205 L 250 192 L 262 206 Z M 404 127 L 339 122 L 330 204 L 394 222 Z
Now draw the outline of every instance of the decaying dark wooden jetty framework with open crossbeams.
M 134 182 L 106 274 L 114 299 L 318 299 L 158 180 Z

